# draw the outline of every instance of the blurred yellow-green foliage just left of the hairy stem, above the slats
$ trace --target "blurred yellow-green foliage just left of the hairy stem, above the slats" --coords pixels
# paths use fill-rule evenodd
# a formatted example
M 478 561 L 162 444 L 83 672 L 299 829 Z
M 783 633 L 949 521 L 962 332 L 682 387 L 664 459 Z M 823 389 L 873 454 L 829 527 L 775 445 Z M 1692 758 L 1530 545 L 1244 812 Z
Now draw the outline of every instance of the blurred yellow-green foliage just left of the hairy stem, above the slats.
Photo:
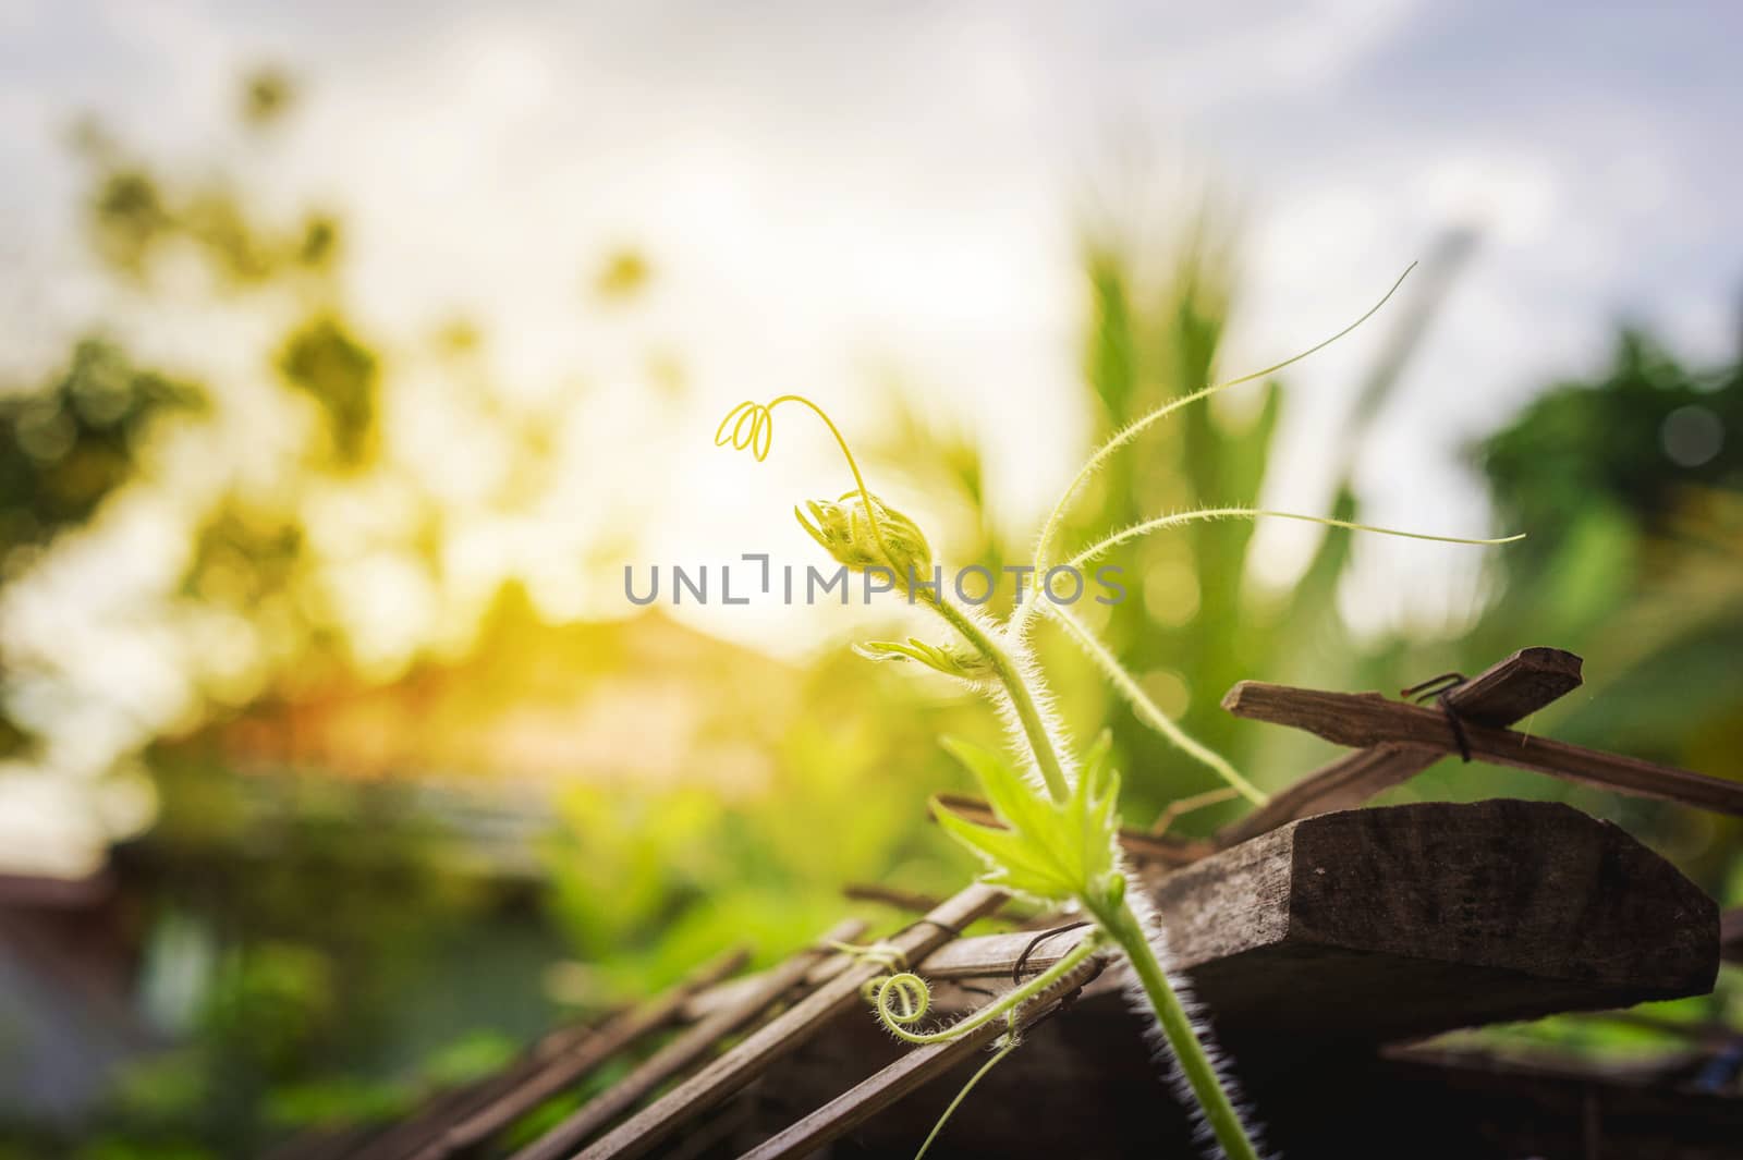
M 727 946 L 777 960 L 856 909 L 842 899 L 852 883 L 953 890 L 960 867 L 917 824 L 927 792 L 967 787 L 936 738 L 999 733 L 973 705 L 927 702 L 910 683 L 845 650 L 819 660 L 772 754 L 774 780 L 749 798 L 566 791 L 568 836 L 549 866 L 554 914 L 586 965 L 579 996 L 645 995 Z

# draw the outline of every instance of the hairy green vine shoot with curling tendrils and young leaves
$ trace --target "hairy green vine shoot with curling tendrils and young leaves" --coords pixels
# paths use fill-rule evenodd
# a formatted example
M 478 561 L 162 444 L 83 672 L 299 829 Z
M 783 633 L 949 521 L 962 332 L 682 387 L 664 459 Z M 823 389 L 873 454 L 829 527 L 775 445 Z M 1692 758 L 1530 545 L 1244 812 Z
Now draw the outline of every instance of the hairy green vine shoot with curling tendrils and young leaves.
M 1405 275 L 1408 273 L 1405 270 Z M 1400 282 L 1403 282 L 1403 275 L 1386 293 L 1386 298 L 1332 338 L 1264 371 L 1175 399 L 1109 439 L 1089 456 L 1048 516 L 1035 545 L 1035 570 L 1032 575 L 1037 578 L 1046 577 L 1048 570 L 1056 566 L 1051 545 L 1058 535 L 1060 521 L 1084 482 L 1114 451 L 1190 402 L 1206 399 L 1238 383 L 1267 376 L 1337 341 L 1386 305 L 1386 300 L 1393 296 Z M 812 500 L 802 509 L 795 509 L 798 523 L 837 563 L 851 571 L 877 571 L 892 585 L 892 594 L 905 596 L 910 604 L 920 604 L 936 613 L 957 637 L 950 644 L 933 644 L 917 637 L 901 643 L 872 641 L 858 646 L 858 651 L 873 660 L 917 662 L 985 693 L 999 707 L 1011 732 L 1013 749 L 1020 754 L 1020 761 L 1013 763 L 988 749 L 945 738 L 945 747 L 976 777 L 1004 827 L 969 822 L 934 799 L 933 813 L 938 824 L 985 864 L 983 881 L 988 885 L 1028 897 L 1044 906 L 1074 907 L 1091 923 L 1089 934 L 1056 963 L 945 1029 L 931 1033 L 912 1029 L 913 1024 L 926 1017 L 931 993 L 924 979 L 906 970 L 882 977 L 868 991 L 868 998 L 877 1007 L 878 1017 L 891 1033 L 910 1043 L 938 1043 L 966 1035 L 995 1019 L 1006 1019 L 1009 1029 L 999 1040 L 999 1054 L 974 1075 L 969 1082 L 969 1087 L 973 1087 L 994 1062 L 1016 1045 L 1018 1014 L 1023 1003 L 1046 993 L 1089 958 L 1110 951 L 1117 953 L 1129 963 L 1140 1003 L 1156 1021 L 1156 1028 L 1161 1031 L 1168 1050 L 1178 1061 L 1180 1076 L 1185 1080 L 1192 1099 L 1204 1116 L 1206 1127 L 1215 1136 L 1222 1151 L 1231 1160 L 1257 1160 L 1258 1151 L 1253 1144 L 1253 1132 L 1236 1106 L 1232 1082 L 1218 1071 L 1213 1054 L 1206 1049 L 1206 1029 L 1192 1021 L 1187 1005 L 1182 1002 L 1180 984 L 1164 970 L 1164 963 L 1168 961 L 1166 942 L 1154 911 L 1142 890 L 1128 888 L 1129 874 L 1119 848 L 1119 775 L 1109 763 L 1109 737 L 1103 733 L 1081 759 L 1074 756 L 1065 730 L 1051 709 L 1046 678 L 1028 646 L 1028 629 L 1034 617 L 1039 613 L 1056 620 L 1133 704 L 1140 719 L 1159 730 L 1187 754 L 1217 770 L 1241 796 L 1253 803 L 1262 803 L 1265 796 L 1222 756 L 1180 730 L 1168 714 L 1145 697 L 1143 690 L 1114 653 L 1061 604 L 1032 599 L 1018 604 L 1006 624 L 995 624 L 976 608 L 950 599 L 946 592 L 948 585 L 926 582 L 924 578 L 934 577 L 933 549 L 926 535 L 910 517 L 870 491 L 847 446 L 847 439 L 810 399 L 804 395 L 781 395 L 767 404 L 741 402 L 727 413 L 715 432 L 716 446 L 730 444 L 736 449 L 751 451 L 758 460 L 767 458 L 774 439 L 774 413 L 788 402 L 805 406 L 823 420 L 835 437 L 837 446 L 840 446 L 854 479 L 854 488 L 837 500 Z M 1445 543 L 1492 545 L 1520 538 L 1464 540 L 1370 528 L 1367 524 L 1295 512 L 1217 507 L 1138 523 L 1074 552 L 1065 559 L 1065 566 L 1081 568 L 1138 536 L 1178 528 L 1192 521 L 1257 517 L 1299 519 L 1358 531 L 1440 540 Z M 878 953 L 878 948 L 858 949 L 873 956 Z M 894 970 L 901 963 L 889 963 L 889 967 Z M 950 1104 L 945 1116 L 955 1109 L 966 1094 L 967 1089 Z M 941 1123 L 943 1120 L 939 1120 Z M 938 1129 L 934 1127 L 933 1136 L 927 1137 L 927 1146 L 936 1134 Z M 924 1151 L 926 1148 L 922 1148 Z

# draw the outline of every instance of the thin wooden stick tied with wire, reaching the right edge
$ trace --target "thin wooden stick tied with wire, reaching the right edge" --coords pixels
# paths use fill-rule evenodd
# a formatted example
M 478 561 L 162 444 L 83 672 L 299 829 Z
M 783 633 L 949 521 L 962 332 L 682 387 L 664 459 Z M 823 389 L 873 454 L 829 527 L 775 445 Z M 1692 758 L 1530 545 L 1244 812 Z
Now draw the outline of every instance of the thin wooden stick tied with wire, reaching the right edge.
M 1436 752 L 1457 749 L 1452 725 L 1440 709 L 1387 700 L 1379 693 L 1326 693 L 1241 681 L 1229 690 L 1222 705 L 1239 718 L 1307 730 L 1340 745 L 1410 745 Z M 1743 782 L 1529 737 L 1475 721 L 1464 723 L 1462 732 L 1473 759 L 1600 786 L 1637 798 L 1658 798 L 1719 813 L 1743 815 Z

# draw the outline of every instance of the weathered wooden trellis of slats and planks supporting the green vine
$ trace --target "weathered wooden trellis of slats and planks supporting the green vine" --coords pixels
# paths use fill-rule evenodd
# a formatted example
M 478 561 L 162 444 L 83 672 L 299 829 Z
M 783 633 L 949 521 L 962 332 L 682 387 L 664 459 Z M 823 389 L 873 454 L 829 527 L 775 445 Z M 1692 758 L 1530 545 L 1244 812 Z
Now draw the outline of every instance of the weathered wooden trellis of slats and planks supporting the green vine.
M 1712 989 L 1720 954 L 1743 960 L 1743 911 L 1720 916 L 1713 900 L 1666 860 L 1569 806 L 1483 801 L 1356 808 L 1447 754 L 1461 754 L 1743 815 L 1743 786 L 1736 782 L 1509 728 L 1577 688 L 1579 669 L 1572 653 L 1527 648 L 1471 679 L 1448 679 L 1433 705 L 1260 683 L 1231 690 L 1224 700 L 1231 712 L 1304 728 L 1353 752 L 1309 773 L 1215 840 L 1143 833 L 1122 838 L 1170 932 L 1175 967 L 1190 979 L 1227 1043 L 1258 1045 L 1260 1052 L 1272 1042 L 1335 1050 L 1347 1069 L 1368 1075 L 1375 1090 L 1394 1092 L 1400 1109 L 1422 1099 L 1424 1089 L 1412 1087 L 1412 1076 L 1424 1075 L 1434 1076 L 1434 1092 L 1464 1090 L 1471 1099 L 1489 1099 L 1495 1085 L 1504 1089 L 1508 1082 L 1515 1083 L 1509 1090 L 1550 1103 L 1565 1103 L 1567 1092 L 1577 1089 L 1583 1103 L 1570 1130 L 1588 1155 L 1598 1155 L 1605 1139 L 1618 1139 L 1614 1130 L 1605 1136 L 1605 1108 L 1663 1111 L 1665 1101 L 1682 1108 L 1679 1099 L 1696 1099 L 1668 1087 L 1624 1085 L 1604 1073 L 1501 1064 L 1485 1069 L 1480 1061 L 1447 1052 L 1375 1050 L 1452 1028 L 1703 995 Z M 953 805 L 992 820 L 983 803 Z M 936 904 L 885 890 L 872 895 L 926 907 L 924 916 L 885 941 L 936 982 L 936 1003 L 946 1014 L 1014 986 L 1018 970 L 1044 970 L 1081 937 L 1063 932 L 1037 942 L 1032 930 L 960 935 L 1006 900 L 978 885 Z M 591 1028 L 554 1031 L 505 1071 L 446 1092 L 401 1123 L 303 1139 L 281 1150 L 279 1160 L 828 1155 L 851 1134 L 891 1116 L 899 1120 L 905 1097 L 962 1068 L 1004 1029 L 994 1022 L 933 1047 L 878 1045 L 863 1014 L 861 984 L 884 968 L 826 949 L 861 934 L 861 925 L 844 923 L 824 932 L 816 948 L 755 975 L 732 977 L 744 956 L 729 954 L 657 1000 Z M 1135 1038 L 1135 1024 L 1119 1005 L 1121 972 L 1103 974 L 1103 967 L 1098 960 L 1086 963 L 1027 1005 L 1023 1021 L 1037 1026 L 1074 1007 L 1055 1021 L 1060 1036 L 1072 1035 L 1065 1028 L 1074 1021 L 1084 1021 L 1084 1028 L 1105 1024 L 1112 1036 Z M 528 1111 L 575 1090 L 614 1057 L 645 1054 L 654 1036 L 668 1033 L 659 1050 L 539 1139 L 518 1151 L 502 1148 L 505 1130 Z M 1715 1035 L 1726 1050 L 1743 1050 L 1734 1033 Z M 999 1073 L 1041 1050 L 1025 1047 Z M 1712 1043 L 1703 1050 L 1712 1054 Z M 1245 1047 L 1236 1055 L 1245 1066 Z M 856 1064 L 868 1059 L 870 1071 L 858 1075 Z M 1055 1089 L 1075 1083 L 1095 1094 L 1103 1082 L 1114 1090 L 1126 1078 L 1112 1064 L 1102 1075 L 1096 1054 L 1070 1055 L 1067 1062 L 1049 1073 Z M 767 1104 L 783 1104 L 770 1099 L 770 1087 L 812 1089 L 814 1097 L 790 1122 L 770 1123 Z M 1314 1089 L 1299 1076 L 1292 1087 Z M 748 1097 L 748 1089 L 762 1096 Z M 1731 1139 L 1743 1141 L 1743 1099 L 1701 1099 L 1710 1104 L 1699 1109 L 1701 1123 L 1720 1137 L 1738 1129 Z M 1260 1109 L 1271 1111 L 1265 1099 Z M 1286 1109 L 1279 1115 L 1288 1118 Z M 924 1132 L 919 1120 L 903 1122 L 889 1137 L 912 1144 L 912 1132 L 903 1136 L 910 1129 Z M 1701 1132 L 1706 1127 L 1694 1130 Z M 1041 1136 L 1023 1139 L 1041 1148 Z M 985 1155 L 997 1155 L 994 1141 L 983 1143 Z M 859 1148 L 854 1155 L 868 1155 L 872 1144 L 861 1141 Z

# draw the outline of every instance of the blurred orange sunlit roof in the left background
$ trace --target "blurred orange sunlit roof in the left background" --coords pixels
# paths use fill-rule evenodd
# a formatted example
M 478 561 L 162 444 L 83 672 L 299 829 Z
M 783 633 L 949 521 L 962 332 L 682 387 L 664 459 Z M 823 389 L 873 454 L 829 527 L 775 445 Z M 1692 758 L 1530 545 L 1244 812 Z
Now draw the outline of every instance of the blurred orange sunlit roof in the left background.
M 551 625 L 509 589 L 474 644 L 399 679 L 352 672 L 291 686 L 159 747 L 249 773 L 492 780 L 566 779 L 749 789 L 802 672 L 648 611 Z

